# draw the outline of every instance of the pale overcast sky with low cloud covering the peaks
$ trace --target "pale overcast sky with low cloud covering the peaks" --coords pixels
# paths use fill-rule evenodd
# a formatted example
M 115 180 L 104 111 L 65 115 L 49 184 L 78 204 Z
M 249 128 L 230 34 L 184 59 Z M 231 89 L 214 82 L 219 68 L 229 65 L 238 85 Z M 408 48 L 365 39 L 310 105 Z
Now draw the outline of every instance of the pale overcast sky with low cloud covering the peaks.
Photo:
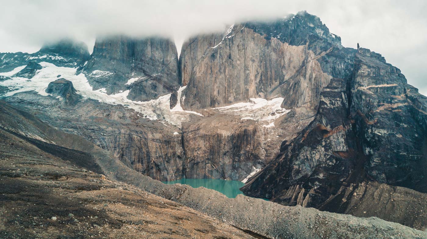
M 180 45 L 225 24 L 307 10 L 342 45 L 381 53 L 427 95 L 426 0 L 0 0 L 0 7 L 0 52 L 35 52 L 62 37 L 83 40 L 92 52 L 103 34 L 163 35 Z

